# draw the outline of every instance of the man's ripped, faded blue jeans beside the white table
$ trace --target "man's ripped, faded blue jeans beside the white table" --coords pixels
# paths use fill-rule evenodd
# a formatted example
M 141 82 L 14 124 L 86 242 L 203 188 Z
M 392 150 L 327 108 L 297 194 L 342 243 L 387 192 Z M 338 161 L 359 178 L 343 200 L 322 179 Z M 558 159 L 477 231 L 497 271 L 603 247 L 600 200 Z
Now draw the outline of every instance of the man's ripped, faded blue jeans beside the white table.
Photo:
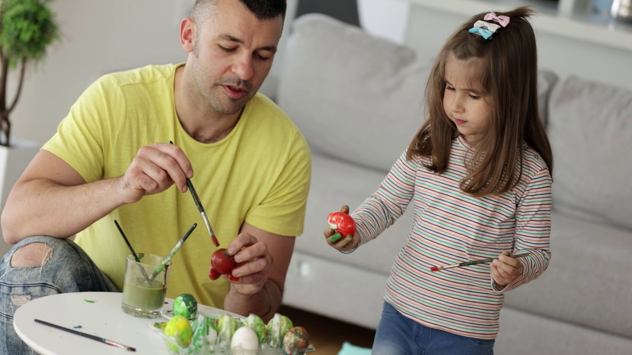
M 16 250 L 30 243 L 46 243 L 42 265 L 11 267 Z M 66 292 L 121 292 L 90 257 L 70 239 L 33 236 L 15 244 L 0 262 L 0 354 L 34 354 L 15 332 L 13 314 L 35 298 Z

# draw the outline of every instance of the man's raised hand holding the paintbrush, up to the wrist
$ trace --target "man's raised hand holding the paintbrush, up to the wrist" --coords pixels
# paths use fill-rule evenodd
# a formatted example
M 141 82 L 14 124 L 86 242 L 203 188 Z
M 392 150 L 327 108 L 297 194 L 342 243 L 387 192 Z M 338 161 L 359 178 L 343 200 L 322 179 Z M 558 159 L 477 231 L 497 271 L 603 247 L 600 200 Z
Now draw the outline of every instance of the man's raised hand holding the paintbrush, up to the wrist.
M 173 184 L 186 192 L 186 179 L 192 177 L 191 162 L 179 147 L 154 143 L 138 150 L 119 182 L 125 202 L 135 203 L 143 196 L 161 193 Z

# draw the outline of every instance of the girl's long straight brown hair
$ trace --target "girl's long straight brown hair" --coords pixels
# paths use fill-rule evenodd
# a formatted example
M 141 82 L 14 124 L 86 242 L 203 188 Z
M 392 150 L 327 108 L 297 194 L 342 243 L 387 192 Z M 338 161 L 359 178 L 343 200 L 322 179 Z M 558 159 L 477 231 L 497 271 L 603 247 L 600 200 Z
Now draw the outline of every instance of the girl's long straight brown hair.
M 509 16 L 492 38 L 469 33 L 480 13 L 466 21 L 447 39 L 435 60 L 425 90 L 427 119 L 408 147 L 406 158 L 427 157 L 431 171 L 446 171 L 452 141 L 459 134 L 443 109 L 446 90 L 446 61 L 477 59 L 480 86 L 489 93 L 490 121 L 487 133 L 471 145 L 468 175 L 460 188 L 473 196 L 499 194 L 514 188 L 522 171 L 523 143 L 544 160 L 553 173 L 553 153 L 538 112 L 538 63 L 533 28 L 526 20 L 533 11 L 520 7 L 496 15 Z M 494 22 L 495 23 L 495 22 Z M 480 60 L 479 60 L 480 59 Z

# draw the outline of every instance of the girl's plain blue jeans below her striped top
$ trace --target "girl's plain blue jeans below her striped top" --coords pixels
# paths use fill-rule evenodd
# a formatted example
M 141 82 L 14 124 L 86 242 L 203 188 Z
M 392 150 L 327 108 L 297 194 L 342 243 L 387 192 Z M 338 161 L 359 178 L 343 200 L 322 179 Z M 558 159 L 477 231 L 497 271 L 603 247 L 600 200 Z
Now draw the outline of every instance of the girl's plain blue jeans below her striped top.
M 384 302 L 373 355 L 494 355 L 494 339 L 477 339 L 426 327 Z

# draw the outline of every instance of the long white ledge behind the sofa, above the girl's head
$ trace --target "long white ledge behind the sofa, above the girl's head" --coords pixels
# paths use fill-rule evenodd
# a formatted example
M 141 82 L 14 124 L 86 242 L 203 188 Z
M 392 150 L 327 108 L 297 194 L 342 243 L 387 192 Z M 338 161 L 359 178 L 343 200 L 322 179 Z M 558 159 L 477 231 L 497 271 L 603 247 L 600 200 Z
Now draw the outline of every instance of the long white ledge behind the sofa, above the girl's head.
M 550 1 L 406 0 L 412 5 L 471 16 L 490 9 L 507 10 L 530 4 L 537 11 L 535 31 L 632 51 L 632 25 L 599 15 L 563 15 Z

